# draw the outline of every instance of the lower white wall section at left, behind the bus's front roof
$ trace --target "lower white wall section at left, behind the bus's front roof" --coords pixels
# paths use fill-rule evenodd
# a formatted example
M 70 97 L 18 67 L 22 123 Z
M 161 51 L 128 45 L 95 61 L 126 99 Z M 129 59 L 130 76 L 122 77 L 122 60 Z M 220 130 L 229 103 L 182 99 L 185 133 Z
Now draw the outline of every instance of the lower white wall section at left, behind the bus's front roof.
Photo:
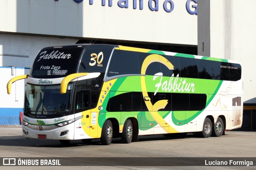
M 78 39 L 0 34 L 0 66 L 30 68 L 43 47 L 74 44 Z

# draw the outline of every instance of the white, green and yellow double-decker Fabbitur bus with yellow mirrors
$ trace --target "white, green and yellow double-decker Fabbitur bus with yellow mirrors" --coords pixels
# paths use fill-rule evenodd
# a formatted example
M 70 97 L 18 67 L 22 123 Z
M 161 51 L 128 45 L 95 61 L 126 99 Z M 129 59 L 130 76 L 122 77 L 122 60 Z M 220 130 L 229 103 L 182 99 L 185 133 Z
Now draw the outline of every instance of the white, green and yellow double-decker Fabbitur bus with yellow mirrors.
M 220 137 L 242 125 L 238 61 L 118 45 L 39 51 L 27 78 L 26 138 L 123 143 L 138 135 Z

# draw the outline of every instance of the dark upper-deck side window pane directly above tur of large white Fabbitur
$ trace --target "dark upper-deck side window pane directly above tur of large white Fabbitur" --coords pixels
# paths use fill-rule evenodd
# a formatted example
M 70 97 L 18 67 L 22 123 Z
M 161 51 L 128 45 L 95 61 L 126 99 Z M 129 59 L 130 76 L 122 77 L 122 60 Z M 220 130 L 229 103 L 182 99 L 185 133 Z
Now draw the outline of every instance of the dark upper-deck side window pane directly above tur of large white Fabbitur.
M 198 78 L 197 59 L 180 57 L 180 77 Z

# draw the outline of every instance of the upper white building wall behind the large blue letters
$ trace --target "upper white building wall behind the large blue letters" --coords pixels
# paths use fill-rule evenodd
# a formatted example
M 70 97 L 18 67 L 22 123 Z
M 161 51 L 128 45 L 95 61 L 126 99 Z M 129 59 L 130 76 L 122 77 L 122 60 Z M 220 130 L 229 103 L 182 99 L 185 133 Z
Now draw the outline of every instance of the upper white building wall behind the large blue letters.
M 197 16 L 188 13 L 188 0 L 143 0 L 142 10 L 140 0 L 136 9 L 133 0 L 127 0 L 128 8 L 118 6 L 119 1 L 108 6 L 106 0 L 102 6 L 101 0 L 1 0 L 0 21 L 5 24 L 0 31 L 197 45 Z M 189 9 L 195 10 L 195 1 Z M 158 11 L 150 10 L 149 2 L 152 7 L 158 2 Z M 164 2 L 167 9 L 173 2 L 172 12 L 164 10 Z

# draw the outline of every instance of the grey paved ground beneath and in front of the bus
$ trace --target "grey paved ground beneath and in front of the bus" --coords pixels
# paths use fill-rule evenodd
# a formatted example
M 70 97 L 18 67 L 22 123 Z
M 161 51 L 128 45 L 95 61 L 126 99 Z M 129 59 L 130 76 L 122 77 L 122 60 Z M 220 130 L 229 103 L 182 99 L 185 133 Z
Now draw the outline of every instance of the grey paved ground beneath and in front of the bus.
M 16 166 L 3 166 L 6 164 L 6 158 L 15 158 Z M 18 165 L 18 159 L 23 163 Z M 33 164 L 28 162 L 32 159 L 39 161 L 38 166 L 20 166 Z M 50 162 L 46 159 L 50 159 Z M 42 160 L 46 160 L 44 166 L 40 166 Z M 53 160 L 56 160 L 55 164 L 59 161 L 57 166 L 54 166 Z M 211 166 L 216 162 L 227 163 L 227 166 Z M 99 139 L 90 143 L 74 140 L 68 145 L 62 145 L 56 140 L 26 139 L 22 136 L 20 127 L 0 127 L 0 169 L 2 168 L 255 170 L 256 132 L 226 131 L 221 137 L 209 138 L 198 138 L 192 133 L 178 137 L 140 136 L 138 142 L 130 144 L 124 144 L 117 138 L 113 139 L 111 145 L 106 146 L 102 145 Z

